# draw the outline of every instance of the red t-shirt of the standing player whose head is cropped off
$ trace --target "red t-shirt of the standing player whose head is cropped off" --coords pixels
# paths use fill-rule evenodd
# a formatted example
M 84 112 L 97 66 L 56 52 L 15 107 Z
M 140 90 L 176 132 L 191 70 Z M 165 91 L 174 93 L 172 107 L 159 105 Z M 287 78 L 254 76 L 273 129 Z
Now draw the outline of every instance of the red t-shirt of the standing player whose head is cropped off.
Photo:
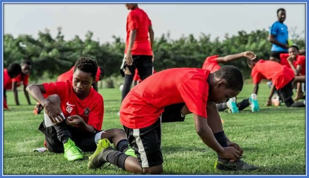
M 152 56 L 150 41 L 148 40 L 149 26 L 151 21 L 144 10 L 135 8 L 131 10 L 127 17 L 127 39 L 125 43 L 125 54 L 129 45 L 129 37 L 131 30 L 136 30 L 136 38 L 132 47 L 132 55 Z

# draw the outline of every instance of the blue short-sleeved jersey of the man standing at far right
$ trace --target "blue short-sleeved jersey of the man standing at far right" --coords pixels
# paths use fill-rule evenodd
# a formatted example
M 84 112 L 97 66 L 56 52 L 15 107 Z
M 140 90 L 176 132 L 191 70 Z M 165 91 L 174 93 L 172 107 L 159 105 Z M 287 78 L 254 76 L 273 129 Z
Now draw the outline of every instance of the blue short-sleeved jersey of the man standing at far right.
M 281 22 L 275 22 L 273 25 L 269 28 L 269 34 L 275 35 L 275 39 L 282 43 L 282 44 L 288 44 L 288 27 L 281 23 Z M 273 44 L 271 47 L 271 51 L 283 51 L 288 52 L 288 49 L 282 48 L 281 46 L 278 46 L 277 44 Z

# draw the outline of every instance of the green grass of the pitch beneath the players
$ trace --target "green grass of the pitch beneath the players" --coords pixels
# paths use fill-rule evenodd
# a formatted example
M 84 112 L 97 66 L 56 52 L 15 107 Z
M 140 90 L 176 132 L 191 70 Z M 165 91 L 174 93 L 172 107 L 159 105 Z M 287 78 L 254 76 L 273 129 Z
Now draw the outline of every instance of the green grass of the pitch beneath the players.
M 101 89 L 104 97 L 103 129 L 122 128 L 116 113 L 120 107 L 118 89 Z M 249 97 L 252 85 L 245 85 L 238 100 Z M 184 122 L 162 124 L 162 151 L 165 174 L 305 174 L 305 109 L 264 106 L 269 89 L 260 86 L 260 112 L 250 108 L 239 114 L 221 112 L 224 129 L 238 143 L 248 163 L 260 166 L 258 172 L 215 171 L 216 153 L 204 145 L 194 130 L 192 115 Z M 68 162 L 63 154 L 32 152 L 43 147 L 44 135 L 38 130 L 43 115 L 34 116 L 19 92 L 21 106 L 15 106 L 7 93 L 11 110 L 4 111 L 4 174 L 128 174 L 111 165 L 87 170 L 90 152 L 81 161 Z M 35 103 L 34 101 L 32 102 Z

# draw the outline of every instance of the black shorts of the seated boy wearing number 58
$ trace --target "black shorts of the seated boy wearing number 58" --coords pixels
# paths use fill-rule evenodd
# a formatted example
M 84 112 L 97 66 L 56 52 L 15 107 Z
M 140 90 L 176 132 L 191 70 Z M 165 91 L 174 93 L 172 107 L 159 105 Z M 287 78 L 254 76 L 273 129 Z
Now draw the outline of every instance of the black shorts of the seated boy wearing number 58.
M 45 127 L 43 121 L 39 126 L 39 130 L 45 135 L 46 146 L 50 152 L 64 152 L 63 143 L 57 138 L 57 131 L 53 126 Z M 95 151 L 97 147 L 95 143 L 95 134 L 99 131 L 93 134 L 85 134 L 80 133 L 80 131 L 74 127 L 70 128 L 69 131 L 77 147 L 83 151 Z

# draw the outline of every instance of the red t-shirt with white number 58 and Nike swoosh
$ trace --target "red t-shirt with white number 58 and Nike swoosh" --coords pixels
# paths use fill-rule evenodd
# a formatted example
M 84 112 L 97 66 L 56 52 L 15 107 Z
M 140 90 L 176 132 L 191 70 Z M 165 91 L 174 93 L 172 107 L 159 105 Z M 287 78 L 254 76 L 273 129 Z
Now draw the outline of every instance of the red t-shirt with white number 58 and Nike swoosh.
M 57 94 L 61 100 L 61 110 L 65 117 L 79 115 L 84 121 L 96 130 L 102 129 L 104 103 L 103 97 L 93 88 L 88 96 L 81 100 L 74 93 L 72 82 L 43 83 L 46 97 Z

